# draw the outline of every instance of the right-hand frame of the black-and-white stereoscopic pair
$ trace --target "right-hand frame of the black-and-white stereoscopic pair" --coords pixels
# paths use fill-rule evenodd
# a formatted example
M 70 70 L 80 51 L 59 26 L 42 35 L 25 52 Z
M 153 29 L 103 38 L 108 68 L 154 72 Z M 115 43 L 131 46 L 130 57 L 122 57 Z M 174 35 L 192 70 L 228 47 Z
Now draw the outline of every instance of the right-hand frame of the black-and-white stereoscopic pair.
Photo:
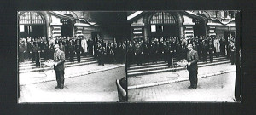
M 128 101 L 236 102 L 235 88 L 241 89 L 236 84 L 241 79 L 236 75 L 236 66 L 241 69 L 240 13 L 128 12 Z

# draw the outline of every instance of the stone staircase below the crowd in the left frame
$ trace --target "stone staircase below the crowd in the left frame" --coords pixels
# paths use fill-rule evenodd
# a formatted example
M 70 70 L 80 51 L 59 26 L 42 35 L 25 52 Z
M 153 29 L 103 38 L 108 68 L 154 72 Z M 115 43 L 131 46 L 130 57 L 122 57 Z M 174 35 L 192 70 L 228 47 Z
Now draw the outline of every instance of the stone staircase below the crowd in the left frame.
M 45 70 L 52 70 L 49 66 L 44 66 L 44 58 L 41 58 L 41 67 L 36 67 L 36 62 L 32 62 L 32 60 L 24 60 L 24 62 L 19 62 L 19 73 L 25 73 L 25 72 L 42 72 Z M 71 67 L 71 66 L 83 66 L 83 65 L 90 65 L 97 63 L 97 60 L 91 56 L 81 56 L 80 63 L 77 61 L 77 58 L 74 57 L 74 62 L 70 62 L 70 60 L 65 60 L 65 67 Z

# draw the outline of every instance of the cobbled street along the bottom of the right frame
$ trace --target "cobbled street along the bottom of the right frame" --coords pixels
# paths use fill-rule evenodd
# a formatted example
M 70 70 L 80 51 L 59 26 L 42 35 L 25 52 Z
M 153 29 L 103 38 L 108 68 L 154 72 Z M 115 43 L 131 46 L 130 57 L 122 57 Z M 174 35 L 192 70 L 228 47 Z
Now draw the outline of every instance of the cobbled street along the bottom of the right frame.
M 197 89 L 188 89 L 190 82 L 129 89 L 130 102 L 235 102 L 236 72 L 198 78 Z

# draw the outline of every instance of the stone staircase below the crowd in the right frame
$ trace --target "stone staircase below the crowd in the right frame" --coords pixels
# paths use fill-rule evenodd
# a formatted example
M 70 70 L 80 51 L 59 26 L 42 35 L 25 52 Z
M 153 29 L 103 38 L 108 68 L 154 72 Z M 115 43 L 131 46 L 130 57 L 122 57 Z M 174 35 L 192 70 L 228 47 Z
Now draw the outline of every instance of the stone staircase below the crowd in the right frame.
M 168 67 L 168 63 L 163 60 L 158 60 L 157 63 L 143 63 L 141 66 L 137 66 L 137 64 L 131 64 L 128 67 L 127 70 L 127 77 L 133 77 L 133 76 L 139 76 L 139 75 L 148 75 L 148 74 L 154 74 L 158 72 L 170 72 L 170 71 L 177 71 L 177 70 L 184 70 L 183 66 L 177 65 L 177 59 L 173 59 L 174 67 Z M 225 64 L 230 63 L 230 60 L 228 60 L 224 56 L 220 57 L 214 57 L 213 62 L 209 62 L 209 57 L 207 57 L 207 62 L 203 62 L 202 60 L 199 60 L 198 67 L 202 66 L 213 66 L 213 65 L 219 65 L 219 64 Z

